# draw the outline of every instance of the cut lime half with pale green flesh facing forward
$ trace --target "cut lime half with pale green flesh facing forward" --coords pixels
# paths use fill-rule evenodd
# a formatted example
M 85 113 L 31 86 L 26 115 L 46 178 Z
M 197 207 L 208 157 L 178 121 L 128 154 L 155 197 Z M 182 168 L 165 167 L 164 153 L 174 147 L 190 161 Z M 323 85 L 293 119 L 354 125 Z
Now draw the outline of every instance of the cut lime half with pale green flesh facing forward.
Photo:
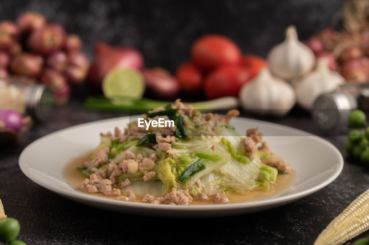
M 142 98 L 145 81 L 134 69 L 117 68 L 109 71 L 102 83 L 103 93 L 114 104 L 132 104 Z

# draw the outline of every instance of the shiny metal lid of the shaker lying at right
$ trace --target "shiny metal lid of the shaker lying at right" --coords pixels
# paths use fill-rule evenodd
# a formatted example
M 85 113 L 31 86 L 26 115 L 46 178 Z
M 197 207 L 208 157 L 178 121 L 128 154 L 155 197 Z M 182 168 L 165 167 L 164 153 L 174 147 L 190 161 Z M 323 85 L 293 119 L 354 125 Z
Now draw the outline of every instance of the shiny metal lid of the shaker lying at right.
M 314 123 L 324 132 L 332 132 L 348 124 L 350 111 L 357 107 L 356 98 L 345 90 L 320 95 L 311 114 Z

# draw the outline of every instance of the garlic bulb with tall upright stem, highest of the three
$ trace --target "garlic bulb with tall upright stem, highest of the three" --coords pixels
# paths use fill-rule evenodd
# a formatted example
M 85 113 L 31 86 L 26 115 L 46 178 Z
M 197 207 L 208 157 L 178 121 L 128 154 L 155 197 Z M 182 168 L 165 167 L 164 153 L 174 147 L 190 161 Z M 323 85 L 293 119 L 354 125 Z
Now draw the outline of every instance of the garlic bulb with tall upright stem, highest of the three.
M 290 81 L 311 71 L 315 56 L 306 45 L 297 39 L 296 28 L 286 29 L 286 39 L 270 50 L 268 54 L 270 71 L 277 77 Z

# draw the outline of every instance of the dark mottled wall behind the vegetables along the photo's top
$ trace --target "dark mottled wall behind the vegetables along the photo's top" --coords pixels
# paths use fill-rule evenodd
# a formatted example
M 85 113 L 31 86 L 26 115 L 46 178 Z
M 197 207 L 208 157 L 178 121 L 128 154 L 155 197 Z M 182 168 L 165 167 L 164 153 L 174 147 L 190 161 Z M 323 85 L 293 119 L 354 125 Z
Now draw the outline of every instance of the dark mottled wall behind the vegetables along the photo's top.
M 307 38 L 338 19 L 344 0 L 12 0 L 1 1 L 0 18 L 27 10 L 45 14 L 81 36 L 92 55 L 94 43 L 137 47 L 148 67 L 175 71 L 190 58 L 190 46 L 206 33 L 229 36 L 244 53 L 266 56 L 294 24 Z M 336 21 L 333 21 L 336 24 Z

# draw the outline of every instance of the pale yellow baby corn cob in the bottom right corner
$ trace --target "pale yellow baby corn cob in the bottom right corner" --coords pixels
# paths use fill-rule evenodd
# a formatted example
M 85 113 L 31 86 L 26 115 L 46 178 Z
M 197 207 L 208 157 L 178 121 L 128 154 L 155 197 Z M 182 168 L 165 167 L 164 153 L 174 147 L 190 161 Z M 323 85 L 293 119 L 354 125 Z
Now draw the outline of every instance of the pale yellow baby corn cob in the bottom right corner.
M 356 198 L 320 233 L 314 245 L 338 245 L 369 229 L 369 189 Z

